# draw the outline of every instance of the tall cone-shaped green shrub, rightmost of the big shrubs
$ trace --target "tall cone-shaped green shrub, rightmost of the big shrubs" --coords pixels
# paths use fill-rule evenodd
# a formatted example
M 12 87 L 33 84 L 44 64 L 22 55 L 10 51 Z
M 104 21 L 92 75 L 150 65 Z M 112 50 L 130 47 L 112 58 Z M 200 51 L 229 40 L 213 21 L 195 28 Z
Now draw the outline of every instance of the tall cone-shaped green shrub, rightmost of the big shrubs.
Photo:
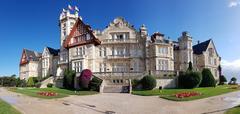
M 202 70 L 202 82 L 200 87 L 215 87 L 216 80 L 214 79 L 211 71 L 208 68 Z

